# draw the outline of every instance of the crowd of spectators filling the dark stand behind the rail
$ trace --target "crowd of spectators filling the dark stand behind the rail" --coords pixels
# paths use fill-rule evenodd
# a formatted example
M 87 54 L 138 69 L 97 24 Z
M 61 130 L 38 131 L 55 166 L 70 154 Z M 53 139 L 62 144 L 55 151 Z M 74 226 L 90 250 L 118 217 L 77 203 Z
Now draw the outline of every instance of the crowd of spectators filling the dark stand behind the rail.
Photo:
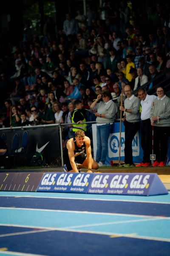
M 147 83 L 153 93 L 153 79 L 170 68 L 168 3 L 157 2 L 144 13 L 127 1 L 119 6 L 105 1 L 100 14 L 92 8 L 87 17 L 79 9 L 75 17 L 67 13 L 57 33 L 48 19 L 42 39 L 27 24 L 23 41 L 9 44 L 8 55 L 0 58 L 1 127 L 70 123 L 75 100 L 90 109 L 97 95 L 109 90 L 120 105 L 126 84 L 136 90 Z M 63 140 L 70 136 L 71 125 L 63 129 Z

